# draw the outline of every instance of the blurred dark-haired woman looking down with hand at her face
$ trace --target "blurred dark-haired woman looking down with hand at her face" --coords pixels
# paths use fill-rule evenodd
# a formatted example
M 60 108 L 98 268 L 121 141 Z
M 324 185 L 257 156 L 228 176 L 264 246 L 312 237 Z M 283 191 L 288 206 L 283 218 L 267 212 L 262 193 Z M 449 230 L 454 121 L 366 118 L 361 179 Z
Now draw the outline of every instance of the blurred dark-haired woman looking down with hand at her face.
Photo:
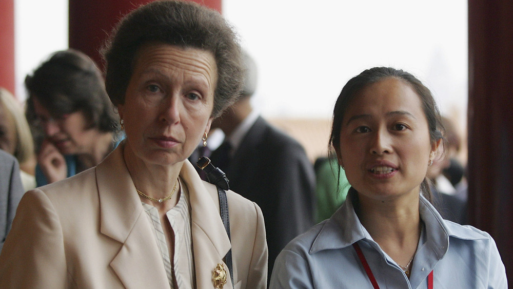
M 116 146 L 117 115 L 102 73 L 84 53 L 57 51 L 25 79 L 37 140 L 37 186 L 100 163 Z

